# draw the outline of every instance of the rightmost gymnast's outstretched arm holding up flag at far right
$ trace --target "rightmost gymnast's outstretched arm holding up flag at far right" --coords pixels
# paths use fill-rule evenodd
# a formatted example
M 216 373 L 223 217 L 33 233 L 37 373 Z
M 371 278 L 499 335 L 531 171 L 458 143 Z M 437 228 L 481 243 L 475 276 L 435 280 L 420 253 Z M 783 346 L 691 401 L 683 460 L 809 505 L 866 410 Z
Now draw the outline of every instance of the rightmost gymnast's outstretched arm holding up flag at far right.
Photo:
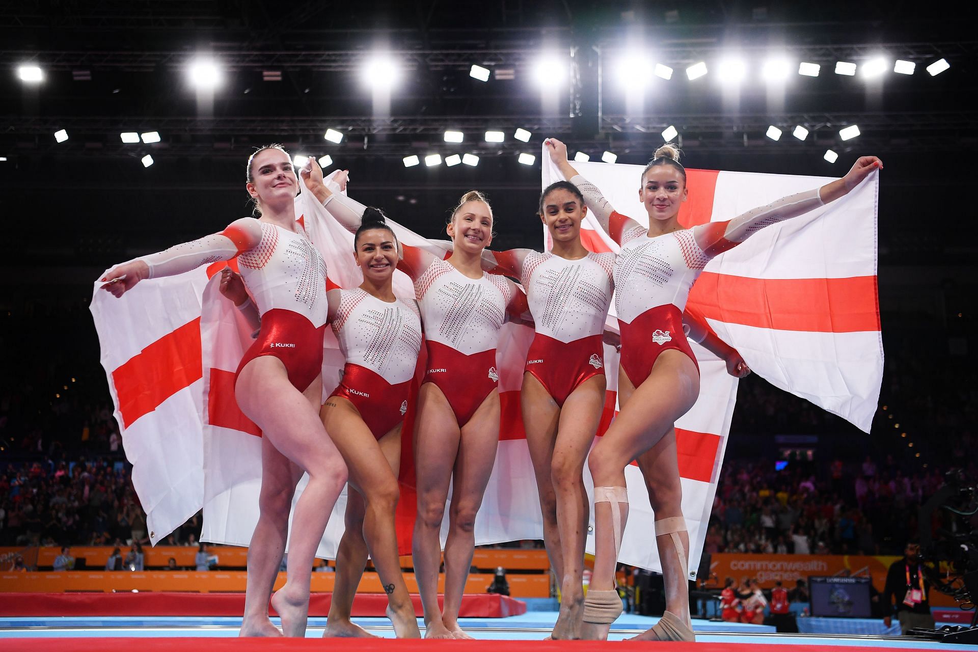
M 841 179 L 815 190 L 781 197 L 766 206 L 748 210 L 734 217 L 733 220 L 701 224 L 693 227 L 692 234 L 703 252 L 712 258 L 750 238 L 765 227 L 804 215 L 829 201 L 847 195 L 866 179 L 871 171 L 882 167 L 882 161 L 875 156 L 863 156 Z

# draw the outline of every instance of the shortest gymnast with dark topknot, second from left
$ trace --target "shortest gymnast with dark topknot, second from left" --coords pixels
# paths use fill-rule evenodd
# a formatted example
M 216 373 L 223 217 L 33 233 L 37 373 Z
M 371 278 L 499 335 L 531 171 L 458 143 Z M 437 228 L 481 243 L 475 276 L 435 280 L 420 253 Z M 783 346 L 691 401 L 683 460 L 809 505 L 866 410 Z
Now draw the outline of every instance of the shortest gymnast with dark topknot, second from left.
M 322 171 L 310 163 L 310 188 L 321 190 Z M 303 175 L 306 170 L 303 170 Z M 349 469 L 345 530 L 336 555 L 333 599 L 324 636 L 373 636 L 350 620 L 353 597 L 368 555 L 387 593 L 387 616 L 398 637 L 421 636 L 401 574 L 394 525 L 401 459 L 401 424 L 422 344 L 417 303 L 394 295 L 398 242 L 376 208 L 365 211 L 353 238 L 364 282 L 327 292 L 327 321 L 343 353 L 339 385 L 320 416 Z M 221 291 L 236 305 L 249 304 L 241 278 L 225 268 Z M 223 280 L 222 280 L 223 281 Z M 378 464 L 378 459 L 386 463 Z

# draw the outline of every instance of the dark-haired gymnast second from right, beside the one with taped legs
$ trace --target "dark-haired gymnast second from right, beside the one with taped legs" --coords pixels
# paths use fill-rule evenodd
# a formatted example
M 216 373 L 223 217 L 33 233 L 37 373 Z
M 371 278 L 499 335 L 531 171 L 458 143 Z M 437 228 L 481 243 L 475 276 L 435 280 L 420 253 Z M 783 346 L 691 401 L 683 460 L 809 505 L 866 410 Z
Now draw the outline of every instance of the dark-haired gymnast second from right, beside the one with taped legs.
M 581 635 L 590 516 L 584 460 L 604 406 L 602 334 L 614 289 L 614 254 L 591 252 L 581 242 L 587 212 L 577 187 L 558 181 L 540 196 L 540 219 L 553 242 L 550 252 L 486 250 L 482 256 L 487 271 L 520 280 L 536 325 L 520 402 L 544 517 L 544 543 L 560 581 L 554 639 Z M 731 369 L 749 372 L 733 348 L 689 316 L 684 321 L 698 334 L 696 341 L 727 360 Z

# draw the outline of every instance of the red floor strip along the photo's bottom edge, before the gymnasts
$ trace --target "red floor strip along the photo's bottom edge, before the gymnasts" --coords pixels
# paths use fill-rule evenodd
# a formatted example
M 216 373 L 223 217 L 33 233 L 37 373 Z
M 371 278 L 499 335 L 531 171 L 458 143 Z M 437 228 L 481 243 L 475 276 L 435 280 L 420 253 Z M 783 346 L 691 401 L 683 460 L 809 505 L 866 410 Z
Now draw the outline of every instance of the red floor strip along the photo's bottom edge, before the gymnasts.
M 163 650 L 193 650 L 206 641 L 207 652 L 257 652 L 273 650 L 330 650 L 331 652 L 429 652 L 432 648 L 446 652 L 557 652 L 561 650 L 655 650 L 656 652 L 756 652 L 750 643 L 659 643 L 588 640 L 397 640 L 390 638 L 349 639 L 331 638 L 7 638 L 5 652 L 163 652 Z M 766 644 L 771 652 L 825 652 L 825 645 Z M 852 652 L 893 652 L 892 647 L 847 646 L 833 643 L 832 649 L 845 648 Z M 913 650 L 904 647 L 901 650 Z

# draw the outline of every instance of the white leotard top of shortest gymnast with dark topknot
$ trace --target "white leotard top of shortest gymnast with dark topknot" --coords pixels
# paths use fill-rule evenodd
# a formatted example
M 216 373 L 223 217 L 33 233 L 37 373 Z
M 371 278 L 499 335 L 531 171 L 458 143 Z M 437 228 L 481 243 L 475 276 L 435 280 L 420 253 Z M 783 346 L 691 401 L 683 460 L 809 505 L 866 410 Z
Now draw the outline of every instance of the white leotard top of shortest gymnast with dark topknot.
M 422 348 L 422 321 L 414 301 L 381 301 L 366 290 L 339 292 L 333 333 L 348 364 L 378 373 L 392 385 L 415 373 Z

